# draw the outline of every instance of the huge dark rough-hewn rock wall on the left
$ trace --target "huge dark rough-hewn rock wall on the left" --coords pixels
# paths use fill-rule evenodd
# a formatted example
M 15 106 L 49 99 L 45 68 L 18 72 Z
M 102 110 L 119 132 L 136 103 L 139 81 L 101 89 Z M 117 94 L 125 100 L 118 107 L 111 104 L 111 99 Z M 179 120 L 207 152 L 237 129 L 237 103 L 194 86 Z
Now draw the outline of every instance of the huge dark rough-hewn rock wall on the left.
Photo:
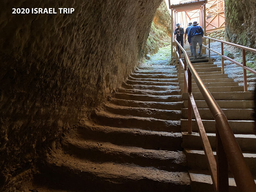
M 54 149 L 131 73 L 160 3 L 1 2 L 0 186 L 31 167 L 43 149 Z M 75 12 L 12 14 L 35 7 Z

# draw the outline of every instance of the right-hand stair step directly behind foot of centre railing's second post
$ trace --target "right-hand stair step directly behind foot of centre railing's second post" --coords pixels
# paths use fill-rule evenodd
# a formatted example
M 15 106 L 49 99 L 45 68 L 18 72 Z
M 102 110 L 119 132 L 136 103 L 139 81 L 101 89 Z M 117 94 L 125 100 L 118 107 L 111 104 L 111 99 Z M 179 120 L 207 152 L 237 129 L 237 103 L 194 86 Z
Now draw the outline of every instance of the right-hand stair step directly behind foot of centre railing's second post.
M 202 120 L 206 132 L 215 132 L 215 120 Z M 234 133 L 254 134 L 255 121 L 246 120 L 228 120 L 228 123 Z M 181 131 L 188 132 L 188 119 L 181 119 Z M 195 119 L 192 119 L 192 131 L 198 132 L 198 126 Z

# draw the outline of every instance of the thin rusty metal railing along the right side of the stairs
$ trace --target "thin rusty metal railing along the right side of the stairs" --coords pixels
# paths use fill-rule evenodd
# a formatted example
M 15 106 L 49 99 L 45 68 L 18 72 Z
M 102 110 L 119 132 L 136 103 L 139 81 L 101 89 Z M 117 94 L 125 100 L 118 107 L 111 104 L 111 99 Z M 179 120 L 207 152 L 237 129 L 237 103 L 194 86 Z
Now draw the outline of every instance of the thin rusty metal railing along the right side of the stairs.
M 245 47 L 245 46 L 238 45 L 238 44 L 234 44 L 234 43 L 229 43 L 229 42 L 222 41 L 222 40 L 218 40 L 218 39 L 213 39 L 213 38 L 207 37 L 207 36 L 204 36 L 204 38 L 207 38 L 207 39 L 208 39 L 208 47 L 207 47 L 206 45 L 204 45 L 204 44 L 203 44 L 203 46 L 204 46 L 206 49 L 209 50 L 209 61 L 210 61 L 210 59 L 211 59 L 211 51 L 221 56 L 221 71 L 222 71 L 222 74 L 224 74 L 224 59 L 229 60 L 229 61 L 231 61 L 232 63 L 235 63 L 235 64 L 238 65 L 239 67 L 242 67 L 242 68 L 243 68 L 244 91 L 247 91 L 247 74 L 246 74 L 246 70 L 252 72 L 254 75 L 256 75 L 256 71 L 255 71 L 254 69 L 252 69 L 252 68 L 246 67 L 246 57 L 245 57 L 246 55 L 245 55 L 245 51 L 250 51 L 250 52 L 256 53 L 256 49 L 252 49 L 252 48 L 250 48 L 250 47 Z M 214 51 L 213 49 L 211 49 L 210 40 L 218 41 L 218 42 L 221 43 L 221 53 L 219 53 L 219 52 Z M 237 48 L 242 49 L 242 52 L 243 52 L 243 63 L 239 63 L 239 62 L 237 62 L 236 60 L 233 60 L 233 59 L 231 59 L 231 58 L 225 56 L 225 55 L 224 55 L 223 44 L 232 45 L 232 46 L 234 46 L 234 47 L 237 47 Z

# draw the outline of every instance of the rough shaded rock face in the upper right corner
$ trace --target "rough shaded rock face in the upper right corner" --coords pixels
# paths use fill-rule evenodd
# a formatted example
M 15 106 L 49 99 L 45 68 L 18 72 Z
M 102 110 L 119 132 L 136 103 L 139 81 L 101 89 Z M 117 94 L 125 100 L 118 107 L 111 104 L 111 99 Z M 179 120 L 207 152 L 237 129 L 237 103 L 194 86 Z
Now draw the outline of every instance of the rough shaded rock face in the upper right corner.
M 226 40 L 256 48 L 256 1 L 225 1 Z

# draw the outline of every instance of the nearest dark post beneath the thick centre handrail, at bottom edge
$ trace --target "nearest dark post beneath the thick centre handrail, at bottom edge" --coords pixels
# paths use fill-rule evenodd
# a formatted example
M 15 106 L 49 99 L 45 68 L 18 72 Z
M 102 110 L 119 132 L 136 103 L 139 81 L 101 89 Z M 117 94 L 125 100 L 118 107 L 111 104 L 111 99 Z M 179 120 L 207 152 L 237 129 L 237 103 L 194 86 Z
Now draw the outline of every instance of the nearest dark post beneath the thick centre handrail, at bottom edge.
M 228 160 L 216 125 L 217 191 L 228 191 Z

